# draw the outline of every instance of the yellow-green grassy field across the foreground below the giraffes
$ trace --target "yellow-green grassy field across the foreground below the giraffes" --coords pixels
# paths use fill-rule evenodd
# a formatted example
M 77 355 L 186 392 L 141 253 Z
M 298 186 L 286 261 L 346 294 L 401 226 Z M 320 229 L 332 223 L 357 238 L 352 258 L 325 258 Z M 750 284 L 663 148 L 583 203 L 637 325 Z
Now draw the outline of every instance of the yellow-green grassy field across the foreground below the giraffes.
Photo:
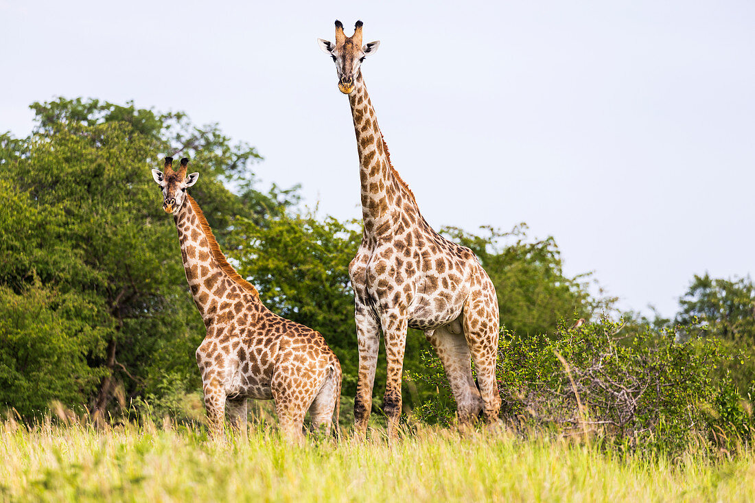
M 649 461 L 430 427 L 395 446 L 288 446 L 263 427 L 216 445 L 171 424 L 0 435 L 3 501 L 755 501 L 752 452 Z

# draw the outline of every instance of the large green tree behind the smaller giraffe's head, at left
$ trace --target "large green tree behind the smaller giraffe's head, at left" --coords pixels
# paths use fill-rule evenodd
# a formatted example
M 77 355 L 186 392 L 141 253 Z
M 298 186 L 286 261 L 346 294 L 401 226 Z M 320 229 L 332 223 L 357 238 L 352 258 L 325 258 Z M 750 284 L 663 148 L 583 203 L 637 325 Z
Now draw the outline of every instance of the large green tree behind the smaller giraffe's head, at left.
M 60 323 L 89 329 L 79 338 L 72 329 L 73 347 L 60 353 L 55 348 L 67 325 L 26 319 L 2 326 L 0 376 L 20 378 L 14 344 L 28 339 L 36 341 L 35 353 L 57 352 L 65 359 L 39 360 L 40 375 L 57 375 L 57 366 L 69 369 L 82 358 L 90 369 L 60 380 L 67 391 L 57 395 L 66 405 L 81 405 L 86 397 L 91 409 L 103 411 L 120 384 L 128 397 L 165 390 L 167 380 L 198 387 L 193 353 L 204 336 L 202 320 L 187 292 L 174 224 L 162 211 L 149 168 L 176 149 L 193 159 L 205 180 L 193 195 L 219 239 L 236 214 L 264 221 L 264 215 L 294 204 L 295 191 L 254 190 L 250 166 L 259 159 L 256 151 L 231 144 L 217 125 L 193 126 L 181 113 L 63 98 L 32 109 L 31 136 L 0 137 L 0 193 L 9 202 L 0 207 L 0 285 L 10 303 L 5 308 L 14 312 L 13 302 L 18 304 L 11 295 L 35 303 L 41 319 L 61 306 L 78 306 L 66 310 Z M 93 376 L 102 377 L 94 390 Z M 3 403 L 26 403 L 29 412 L 51 397 L 32 399 L 23 393 L 30 388 L 19 383 L 8 381 L 8 392 L 0 390 Z

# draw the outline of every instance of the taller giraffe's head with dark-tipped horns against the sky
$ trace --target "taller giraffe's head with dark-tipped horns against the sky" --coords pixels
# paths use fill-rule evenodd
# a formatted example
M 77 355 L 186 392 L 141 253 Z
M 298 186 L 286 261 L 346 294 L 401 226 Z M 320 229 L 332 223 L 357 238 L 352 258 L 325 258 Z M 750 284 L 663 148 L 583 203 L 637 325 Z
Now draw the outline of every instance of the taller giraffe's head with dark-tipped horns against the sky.
M 338 73 L 338 88 L 344 94 L 354 91 L 354 79 L 359 73 L 359 66 L 370 54 L 377 51 L 380 42 L 370 42 L 362 47 L 362 21 L 354 25 L 354 34 L 347 37 L 341 21 L 335 22 L 335 44 L 327 40 L 317 39 L 317 42 L 328 56 L 333 58 Z

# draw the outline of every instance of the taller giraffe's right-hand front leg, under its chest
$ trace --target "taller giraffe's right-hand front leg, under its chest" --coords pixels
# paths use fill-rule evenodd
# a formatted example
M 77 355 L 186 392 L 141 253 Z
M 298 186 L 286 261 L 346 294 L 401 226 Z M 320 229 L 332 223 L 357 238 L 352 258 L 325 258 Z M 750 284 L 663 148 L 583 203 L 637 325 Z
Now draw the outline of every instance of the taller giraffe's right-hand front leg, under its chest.
M 406 330 L 408 318 L 396 310 L 382 316 L 385 337 L 385 355 L 387 360 L 387 380 L 383 398 L 383 412 L 388 417 L 388 440 L 396 440 L 396 428 L 401 416 L 401 378 L 404 369 L 404 351 L 406 350 Z

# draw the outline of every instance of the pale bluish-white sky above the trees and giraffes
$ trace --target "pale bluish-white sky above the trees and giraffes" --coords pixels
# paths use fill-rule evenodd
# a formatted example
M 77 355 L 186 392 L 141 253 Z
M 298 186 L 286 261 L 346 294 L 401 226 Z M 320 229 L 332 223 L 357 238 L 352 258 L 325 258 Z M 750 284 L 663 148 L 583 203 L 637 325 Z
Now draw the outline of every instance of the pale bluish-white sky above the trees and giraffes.
M 260 188 L 359 218 L 349 103 L 316 44 L 335 19 L 381 41 L 365 82 L 434 227 L 525 221 L 566 273 L 669 316 L 693 274 L 755 273 L 751 1 L 0 0 L 0 131 L 57 96 L 183 110 L 257 147 Z

